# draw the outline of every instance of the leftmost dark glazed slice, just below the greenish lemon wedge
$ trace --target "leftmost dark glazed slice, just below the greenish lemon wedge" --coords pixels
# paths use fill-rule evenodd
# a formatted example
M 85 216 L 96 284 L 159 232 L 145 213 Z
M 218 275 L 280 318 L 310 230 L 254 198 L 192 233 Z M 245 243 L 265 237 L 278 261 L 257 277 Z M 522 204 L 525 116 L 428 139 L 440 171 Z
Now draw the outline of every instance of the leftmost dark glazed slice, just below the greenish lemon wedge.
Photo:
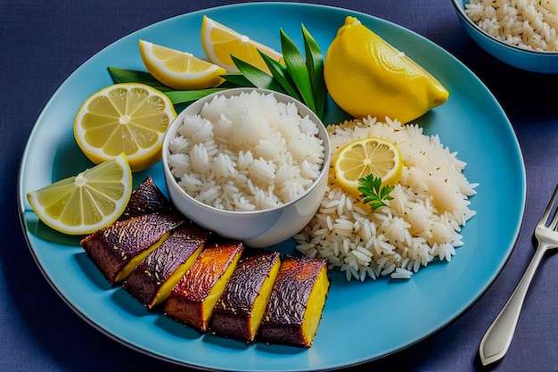
M 117 221 L 80 244 L 109 283 L 116 285 L 183 222 L 177 214 L 146 214 Z

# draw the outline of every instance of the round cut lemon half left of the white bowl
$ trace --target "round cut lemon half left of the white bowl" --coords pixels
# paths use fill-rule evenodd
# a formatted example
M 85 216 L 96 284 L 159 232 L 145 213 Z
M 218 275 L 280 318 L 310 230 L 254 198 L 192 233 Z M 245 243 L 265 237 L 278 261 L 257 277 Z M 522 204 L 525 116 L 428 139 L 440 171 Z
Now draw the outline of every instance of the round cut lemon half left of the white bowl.
M 160 161 L 163 136 L 175 118 L 172 102 L 159 90 L 139 83 L 115 84 L 82 104 L 74 136 L 95 164 L 126 153 L 130 168 L 143 170 Z

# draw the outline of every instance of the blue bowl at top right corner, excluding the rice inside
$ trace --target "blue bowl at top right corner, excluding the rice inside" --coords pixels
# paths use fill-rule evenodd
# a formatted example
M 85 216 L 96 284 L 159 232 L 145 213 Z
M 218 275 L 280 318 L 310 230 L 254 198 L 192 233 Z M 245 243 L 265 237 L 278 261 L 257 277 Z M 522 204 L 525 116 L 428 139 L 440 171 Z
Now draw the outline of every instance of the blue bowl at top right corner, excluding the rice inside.
M 465 31 L 488 54 L 521 70 L 558 73 L 558 53 L 531 51 L 492 37 L 465 14 L 464 4 L 468 3 L 469 0 L 452 0 Z

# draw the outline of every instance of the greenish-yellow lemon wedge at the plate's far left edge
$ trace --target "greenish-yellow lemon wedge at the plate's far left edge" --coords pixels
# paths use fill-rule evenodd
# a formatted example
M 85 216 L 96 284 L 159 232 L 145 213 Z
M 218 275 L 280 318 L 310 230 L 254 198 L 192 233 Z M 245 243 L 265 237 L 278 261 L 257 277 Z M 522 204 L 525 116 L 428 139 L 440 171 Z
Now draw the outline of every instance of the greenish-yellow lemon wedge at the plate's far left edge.
M 75 177 L 29 192 L 27 198 L 45 225 L 69 235 L 91 234 L 111 225 L 132 194 L 132 171 L 123 153 Z

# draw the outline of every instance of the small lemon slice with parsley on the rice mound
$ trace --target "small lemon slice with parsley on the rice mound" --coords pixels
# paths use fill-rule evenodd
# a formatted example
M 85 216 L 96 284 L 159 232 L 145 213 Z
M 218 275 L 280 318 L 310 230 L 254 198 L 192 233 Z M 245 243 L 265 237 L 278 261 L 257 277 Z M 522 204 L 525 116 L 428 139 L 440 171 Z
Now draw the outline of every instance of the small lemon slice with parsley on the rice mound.
M 382 178 L 382 185 L 395 185 L 401 177 L 403 161 L 398 147 L 383 138 L 358 139 L 345 145 L 333 163 L 335 177 L 353 194 L 358 191 L 358 179 L 369 174 Z

